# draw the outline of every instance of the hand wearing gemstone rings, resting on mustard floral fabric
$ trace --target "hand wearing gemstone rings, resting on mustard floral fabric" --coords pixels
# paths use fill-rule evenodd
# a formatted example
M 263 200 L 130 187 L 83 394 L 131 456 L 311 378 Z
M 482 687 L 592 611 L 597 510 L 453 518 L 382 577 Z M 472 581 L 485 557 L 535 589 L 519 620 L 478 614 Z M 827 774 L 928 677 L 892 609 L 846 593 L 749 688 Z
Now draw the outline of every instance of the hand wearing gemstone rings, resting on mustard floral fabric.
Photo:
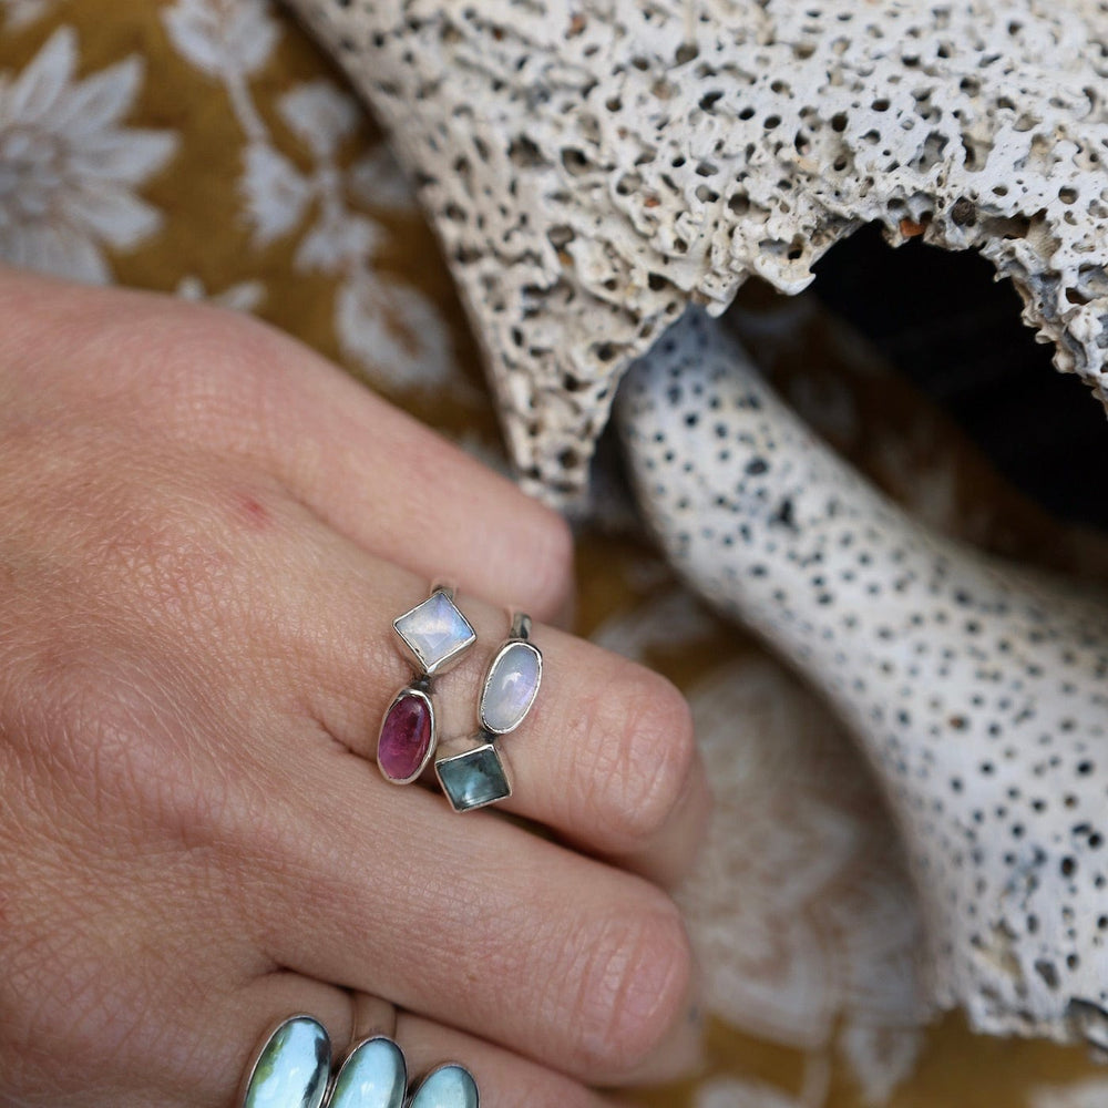
M 0 273 L 0 1100 L 229 1108 L 268 1027 L 342 1050 L 370 997 L 485 1108 L 687 1058 L 684 700 L 536 624 L 503 807 L 551 835 L 388 784 L 439 575 L 461 733 L 503 606 L 567 603 L 561 520 L 257 324 Z

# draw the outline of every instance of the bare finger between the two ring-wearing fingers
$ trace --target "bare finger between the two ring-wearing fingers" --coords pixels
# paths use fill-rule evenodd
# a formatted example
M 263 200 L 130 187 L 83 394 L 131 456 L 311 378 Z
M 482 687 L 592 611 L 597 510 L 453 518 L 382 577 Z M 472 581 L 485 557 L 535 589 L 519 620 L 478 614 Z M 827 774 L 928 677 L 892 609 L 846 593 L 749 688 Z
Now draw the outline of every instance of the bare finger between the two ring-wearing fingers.
M 271 856 L 265 823 L 244 831 L 256 863 L 242 896 L 276 963 L 586 1081 L 687 1057 L 688 936 L 654 885 L 501 819 L 463 824 L 335 747 L 267 791 L 289 798 L 285 849 Z

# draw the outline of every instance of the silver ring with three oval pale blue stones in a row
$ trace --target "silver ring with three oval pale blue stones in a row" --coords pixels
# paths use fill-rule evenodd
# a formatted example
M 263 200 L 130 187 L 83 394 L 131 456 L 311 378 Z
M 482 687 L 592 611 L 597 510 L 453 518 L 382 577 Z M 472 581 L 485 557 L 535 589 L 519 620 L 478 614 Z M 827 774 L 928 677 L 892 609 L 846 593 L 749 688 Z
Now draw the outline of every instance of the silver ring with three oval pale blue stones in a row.
M 408 1063 L 383 1035 L 362 1039 L 331 1080 L 331 1040 L 312 1016 L 290 1016 L 268 1037 L 244 1079 L 243 1108 L 479 1108 L 473 1075 L 433 1069 L 406 1101 Z

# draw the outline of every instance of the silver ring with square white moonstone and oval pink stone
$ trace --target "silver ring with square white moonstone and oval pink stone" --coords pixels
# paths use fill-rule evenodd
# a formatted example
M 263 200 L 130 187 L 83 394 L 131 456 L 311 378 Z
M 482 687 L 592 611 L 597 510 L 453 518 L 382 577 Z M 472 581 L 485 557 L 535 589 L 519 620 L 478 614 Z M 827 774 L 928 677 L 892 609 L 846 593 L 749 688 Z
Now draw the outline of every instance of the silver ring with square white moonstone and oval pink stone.
M 435 583 L 428 598 L 392 620 L 416 676 L 392 698 L 377 736 L 377 767 L 392 784 L 410 784 L 439 742 L 432 678 L 456 665 L 476 633 L 454 604 L 454 589 Z

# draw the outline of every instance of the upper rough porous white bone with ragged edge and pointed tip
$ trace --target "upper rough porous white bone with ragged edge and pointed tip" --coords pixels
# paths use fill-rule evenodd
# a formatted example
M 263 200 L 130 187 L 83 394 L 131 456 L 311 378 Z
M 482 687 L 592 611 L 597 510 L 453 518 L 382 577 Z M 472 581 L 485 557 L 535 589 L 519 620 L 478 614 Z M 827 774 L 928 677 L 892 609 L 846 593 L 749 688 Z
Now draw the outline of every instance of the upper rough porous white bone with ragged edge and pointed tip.
M 1101 400 L 1101 0 L 290 0 L 392 130 L 533 488 L 688 301 L 860 225 L 974 247 Z

